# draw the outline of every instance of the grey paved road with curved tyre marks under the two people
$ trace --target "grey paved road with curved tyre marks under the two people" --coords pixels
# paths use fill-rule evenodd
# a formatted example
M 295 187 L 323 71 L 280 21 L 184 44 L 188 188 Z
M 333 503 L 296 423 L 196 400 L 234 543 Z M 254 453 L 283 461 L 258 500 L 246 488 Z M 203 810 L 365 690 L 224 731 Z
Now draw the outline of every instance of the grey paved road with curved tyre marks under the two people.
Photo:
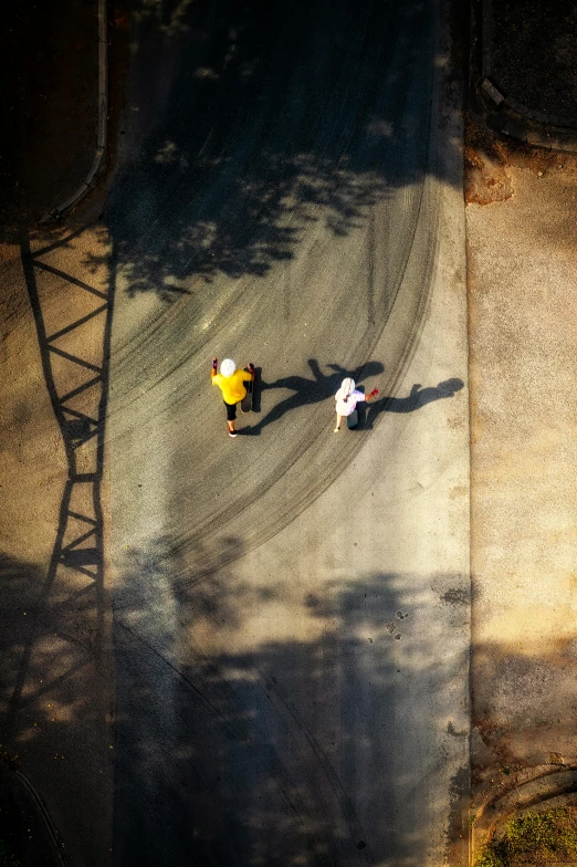
M 468 767 L 445 25 L 431 0 L 172 6 L 134 12 L 103 217 L 115 863 L 432 867 Z M 262 368 L 234 441 L 213 355 Z M 380 396 L 334 435 L 345 375 Z

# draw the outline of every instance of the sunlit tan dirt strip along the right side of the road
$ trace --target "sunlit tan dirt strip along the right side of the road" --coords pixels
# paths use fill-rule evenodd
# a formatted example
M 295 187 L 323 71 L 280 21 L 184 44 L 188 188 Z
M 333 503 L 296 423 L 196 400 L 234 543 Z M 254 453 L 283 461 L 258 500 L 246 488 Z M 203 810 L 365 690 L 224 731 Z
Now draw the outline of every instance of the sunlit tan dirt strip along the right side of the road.
M 577 155 L 465 134 L 473 803 L 577 762 Z

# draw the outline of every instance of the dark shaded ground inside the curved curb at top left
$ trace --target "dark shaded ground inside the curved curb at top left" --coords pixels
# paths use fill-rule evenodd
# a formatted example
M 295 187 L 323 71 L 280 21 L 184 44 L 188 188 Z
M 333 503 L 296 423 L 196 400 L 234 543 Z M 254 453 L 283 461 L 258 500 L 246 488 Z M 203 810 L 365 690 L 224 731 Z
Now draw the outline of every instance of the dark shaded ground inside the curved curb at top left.
M 96 0 L 24 0 L 2 11 L 0 49 L 11 86 L 0 152 L 0 239 L 66 199 L 96 143 Z

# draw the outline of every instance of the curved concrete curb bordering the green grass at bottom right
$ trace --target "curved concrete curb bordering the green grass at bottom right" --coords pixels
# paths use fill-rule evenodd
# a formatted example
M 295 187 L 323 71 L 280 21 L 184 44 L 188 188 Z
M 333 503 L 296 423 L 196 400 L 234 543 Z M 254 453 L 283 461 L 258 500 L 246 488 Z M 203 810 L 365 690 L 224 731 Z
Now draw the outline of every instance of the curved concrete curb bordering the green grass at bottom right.
M 491 795 L 475 805 L 471 826 L 471 864 L 493 837 L 504 834 L 513 816 L 538 813 L 560 806 L 577 806 L 577 767 L 542 765 L 525 779 L 512 781 L 512 787 Z

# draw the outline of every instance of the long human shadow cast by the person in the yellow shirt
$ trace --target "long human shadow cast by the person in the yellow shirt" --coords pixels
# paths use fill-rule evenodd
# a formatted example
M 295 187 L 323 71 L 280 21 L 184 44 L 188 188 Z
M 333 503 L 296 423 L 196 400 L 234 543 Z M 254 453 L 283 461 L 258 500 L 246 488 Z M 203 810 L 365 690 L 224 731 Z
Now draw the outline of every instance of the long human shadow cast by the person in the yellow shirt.
M 368 362 L 355 369 L 348 369 L 339 364 L 328 364 L 329 374 L 323 374 L 316 358 L 308 358 L 308 367 L 313 377 L 305 376 L 282 376 L 273 383 L 260 380 L 260 390 L 272 390 L 274 388 L 286 388 L 293 391 L 292 395 L 276 404 L 263 419 L 244 432 L 259 435 L 265 427 L 279 421 L 286 412 L 308 404 L 318 404 L 333 397 L 340 383 L 346 376 L 352 376 L 355 382 L 361 382 L 369 376 L 377 376 L 385 369 L 380 362 Z

